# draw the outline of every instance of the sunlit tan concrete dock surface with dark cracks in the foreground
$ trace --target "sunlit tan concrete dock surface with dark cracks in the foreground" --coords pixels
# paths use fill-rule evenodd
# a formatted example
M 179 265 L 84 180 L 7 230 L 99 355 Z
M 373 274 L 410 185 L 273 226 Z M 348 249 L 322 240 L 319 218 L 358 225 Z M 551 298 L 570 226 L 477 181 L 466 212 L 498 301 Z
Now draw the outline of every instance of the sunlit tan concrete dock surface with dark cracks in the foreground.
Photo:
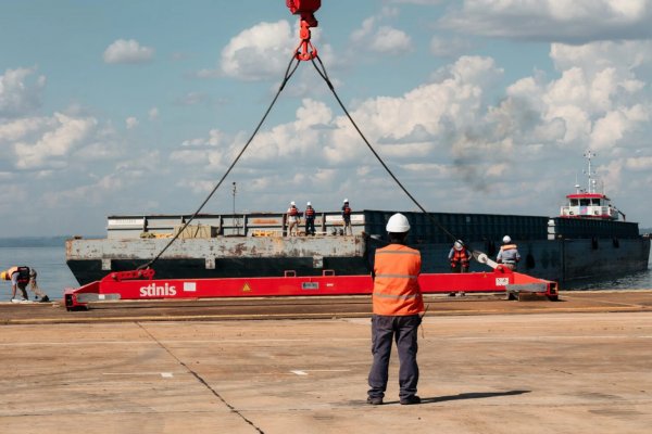
M 366 301 L 325 303 L 324 318 L 298 302 L 301 319 L 272 305 L 266 320 L 263 308 L 3 304 L 0 432 L 649 433 L 652 292 L 610 294 L 431 299 L 415 406 L 398 403 L 396 349 L 385 404 L 365 403 Z

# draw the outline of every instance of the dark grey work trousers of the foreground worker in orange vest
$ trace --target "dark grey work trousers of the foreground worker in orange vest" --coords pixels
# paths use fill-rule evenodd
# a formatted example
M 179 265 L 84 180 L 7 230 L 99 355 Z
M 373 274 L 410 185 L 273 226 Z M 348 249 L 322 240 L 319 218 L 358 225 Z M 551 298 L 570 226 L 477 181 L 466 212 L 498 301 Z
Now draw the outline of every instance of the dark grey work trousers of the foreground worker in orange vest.
M 397 342 L 399 352 L 399 398 L 416 394 L 418 365 L 416 365 L 417 330 L 422 319 L 418 315 L 372 317 L 372 354 L 374 362 L 369 370 L 369 391 L 372 398 L 384 397 L 387 390 L 391 341 Z

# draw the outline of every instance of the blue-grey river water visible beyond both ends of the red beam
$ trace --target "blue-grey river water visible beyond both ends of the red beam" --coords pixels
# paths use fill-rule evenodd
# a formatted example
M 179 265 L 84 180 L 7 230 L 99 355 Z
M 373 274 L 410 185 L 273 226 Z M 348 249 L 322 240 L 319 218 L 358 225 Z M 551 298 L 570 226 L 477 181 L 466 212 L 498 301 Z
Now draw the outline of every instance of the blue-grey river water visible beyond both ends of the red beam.
M 15 265 L 26 265 L 38 271 L 38 285 L 52 299 L 63 298 L 65 288 L 78 286 L 75 277 L 65 265 L 65 248 L 53 247 L 0 247 L 0 269 Z M 564 284 L 562 290 L 652 290 L 652 264 L 644 271 L 614 277 L 604 280 L 591 280 Z M 27 290 L 30 297 L 34 294 Z M 11 284 L 0 282 L 0 302 L 11 298 Z

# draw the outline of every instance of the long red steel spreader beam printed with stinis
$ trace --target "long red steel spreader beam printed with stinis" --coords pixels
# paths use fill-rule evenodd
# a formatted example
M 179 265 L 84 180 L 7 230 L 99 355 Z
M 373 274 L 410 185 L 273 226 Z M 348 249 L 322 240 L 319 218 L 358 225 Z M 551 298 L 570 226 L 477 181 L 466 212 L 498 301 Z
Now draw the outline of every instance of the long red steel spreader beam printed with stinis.
M 422 292 L 436 293 L 491 293 L 536 292 L 556 298 L 555 282 L 513 272 L 499 266 L 490 272 L 425 273 L 418 278 Z M 371 276 L 298 277 L 287 271 L 274 278 L 216 278 L 216 279 L 154 279 L 154 271 L 116 271 L 100 281 L 64 292 L 68 310 L 85 308 L 89 302 L 108 299 L 161 298 L 220 298 L 220 297 L 277 297 L 315 295 L 371 294 Z

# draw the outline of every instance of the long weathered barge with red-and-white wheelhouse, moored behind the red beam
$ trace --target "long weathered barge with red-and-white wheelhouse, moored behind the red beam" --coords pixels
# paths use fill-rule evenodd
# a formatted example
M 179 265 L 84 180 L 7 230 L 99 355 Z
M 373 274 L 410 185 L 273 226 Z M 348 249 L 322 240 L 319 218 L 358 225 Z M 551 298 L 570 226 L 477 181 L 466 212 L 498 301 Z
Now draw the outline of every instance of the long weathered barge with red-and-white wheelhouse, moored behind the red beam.
M 450 272 L 451 233 L 489 258 L 509 234 L 522 256 L 517 270 L 550 281 L 645 270 L 650 238 L 595 191 L 593 154 L 585 156 L 588 188 L 575 186 L 556 217 L 403 212 L 412 228 L 408 244 L 421 251 L 422 271 Z M 344 234 L 340 212 L 316 213 L 316 233 L 298 237 L 289 237 L 285 213 L 201 214 L 191 225 L 186 225 L 190 215 L 115 215 L 108 217 L 106 238 L 66 241 L 66 263 L 84 285 L 147 265 L 177 237 L 153 265 L 159 279 L 368 275 L 369 258 L 387 243 L 385 225 L 393 213 L 353 212 L 352 234 Z M 487 270 L 472 261 L 471 271 Z

